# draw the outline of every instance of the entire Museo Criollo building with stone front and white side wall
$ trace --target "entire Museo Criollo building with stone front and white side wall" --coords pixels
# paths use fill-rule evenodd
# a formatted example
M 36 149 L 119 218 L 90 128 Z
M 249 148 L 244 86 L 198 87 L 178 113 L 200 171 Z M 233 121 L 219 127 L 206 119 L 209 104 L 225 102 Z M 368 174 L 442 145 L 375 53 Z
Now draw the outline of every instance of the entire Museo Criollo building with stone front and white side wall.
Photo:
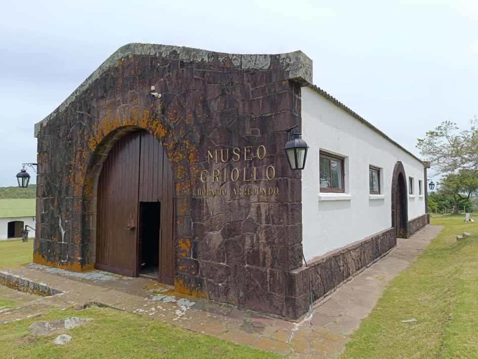
M 284 153 L 295 125 L 303 171 Z M 297 318 L 427 223 L 425 164 L 315 87 L 300 51 L 129 44 L 35 137 L 49 266 Z

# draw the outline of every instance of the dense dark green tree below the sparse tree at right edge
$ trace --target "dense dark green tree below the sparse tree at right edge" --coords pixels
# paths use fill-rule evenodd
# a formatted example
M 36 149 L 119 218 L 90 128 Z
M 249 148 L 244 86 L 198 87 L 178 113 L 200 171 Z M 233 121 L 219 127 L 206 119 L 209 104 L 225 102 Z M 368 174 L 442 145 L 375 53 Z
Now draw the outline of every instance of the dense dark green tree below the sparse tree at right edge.
M 453 213 L 466 207 L 472 208 L 470 197 L 478 193 L 478 172 L 460 170 L 449 173 L 442 178 L 438 194 L 447 197 L 453 203 Z M 466 204 L 466 205 L 465 205 Z M 465 208 L 466 209 L 466 208 Z

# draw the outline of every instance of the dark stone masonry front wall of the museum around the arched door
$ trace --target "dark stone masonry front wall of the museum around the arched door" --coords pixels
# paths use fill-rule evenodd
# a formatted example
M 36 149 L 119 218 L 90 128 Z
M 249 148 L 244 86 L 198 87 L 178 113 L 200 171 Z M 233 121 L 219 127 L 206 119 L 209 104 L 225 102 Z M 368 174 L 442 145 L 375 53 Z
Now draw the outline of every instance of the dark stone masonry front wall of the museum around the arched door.
M 119 49 L 35 126 L 34 262 L 77 271 L 94 267 L 102 164 L 119 138 L 146 129 L 165 149 L 175 180 L 176 289 L 300 316 L 307 293 L 291 272 L 302 266 L 300 172 L 289 170 L 283 148 L 284 131 L 300 128 L 300 85 L 311 79 L 312 63 L 300 52 L 230 55 L 144 44 Z M 152 85 L 160 99 L 149 95 Z M 267 154 L 258 158 L 261 145 Z M 250 161 L 208 162 L 207 151 L 235 147 L 250 147 Z M 275 177 L 267 180 L 270 165 Z M 238 181 L 201 181 L 203 171 L 230 173 L 234 167 L 249 179 L 255 167 L 260 180 L 251 184 L 240 172 Z M 252 187 L 277 193 L 253 194 L 247 190 Z M 364 246 L 381 251 L 376 245 Z M 343 275 L 367 262 L 369 255 L 357 251 L 351 258 L 358 262 Z M 341 261 L 317 266 L 334 268 L 324 274 L 324 288 L 339 280 Z

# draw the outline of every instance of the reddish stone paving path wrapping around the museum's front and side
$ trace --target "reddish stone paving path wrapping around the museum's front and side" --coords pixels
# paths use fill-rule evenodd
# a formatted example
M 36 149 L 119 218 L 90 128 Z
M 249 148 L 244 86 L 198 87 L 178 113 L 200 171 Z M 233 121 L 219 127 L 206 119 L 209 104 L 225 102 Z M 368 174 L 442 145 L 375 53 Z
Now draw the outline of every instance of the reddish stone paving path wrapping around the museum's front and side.
M 0 286 L 1 296 L 24 303 L 0 311 L 0 325 L 31 317 L 49 306 L 82 307 L 84 303 L 96 303 L 291 358 L 334 357 L 344 349 L 349 334 L 359 327 L 362 318 L 371 312 L 390 279 L 408 267 L 442 228 L 427 225 L 409 239 L 399 238 L 397 247 L 387 256 L 316 303 L 313 315 L 299 323 L 185 298 L 171 286 L 144 278 L 102 271 L 75 273 L 29 264 L 5 269 L 0 275 L 21 277 L 26 280 L 23 283 L 42 284 L 63 293 L 37 297 Z

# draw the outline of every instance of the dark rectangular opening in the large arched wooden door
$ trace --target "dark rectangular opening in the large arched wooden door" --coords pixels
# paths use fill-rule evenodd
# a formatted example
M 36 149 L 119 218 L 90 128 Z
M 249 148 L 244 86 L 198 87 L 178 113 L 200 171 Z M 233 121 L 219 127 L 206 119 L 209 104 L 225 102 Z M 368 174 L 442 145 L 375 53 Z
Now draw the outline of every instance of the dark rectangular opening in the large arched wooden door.
M 140 202 L 139 272 L 141 276 L 157 279 L 159 272 L 159 248 L 161 241 L 161 204 Z

